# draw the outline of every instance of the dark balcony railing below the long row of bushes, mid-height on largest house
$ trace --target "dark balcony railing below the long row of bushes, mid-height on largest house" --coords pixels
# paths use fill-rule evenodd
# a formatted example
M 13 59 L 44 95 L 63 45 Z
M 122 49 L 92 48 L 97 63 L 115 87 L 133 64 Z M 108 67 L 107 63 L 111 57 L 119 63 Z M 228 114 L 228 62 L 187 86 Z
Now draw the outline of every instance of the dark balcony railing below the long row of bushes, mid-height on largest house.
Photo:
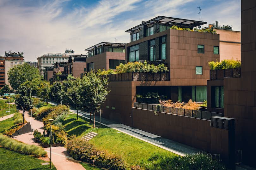
M 170 80 L 170 74 L 167 73 L 146 73 L 130 72 L 104 75 L 109 81 L 166 81 Z

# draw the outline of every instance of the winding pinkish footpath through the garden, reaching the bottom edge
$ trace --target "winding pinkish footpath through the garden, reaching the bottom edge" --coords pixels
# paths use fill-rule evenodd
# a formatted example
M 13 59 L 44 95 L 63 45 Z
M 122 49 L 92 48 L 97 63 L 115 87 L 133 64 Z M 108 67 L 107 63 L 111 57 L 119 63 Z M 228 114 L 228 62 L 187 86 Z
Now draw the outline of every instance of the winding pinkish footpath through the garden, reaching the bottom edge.
M 25 119 L 27 122 L 30 122 L 30 113 L 25 112 Z M 42 121 L 36 120 L 32 117 L 32 128 L 37 129 L 39 132 L 43 133 L 44 124 Z M 29 133 L 25 133 L 22 135 L 16 136 L 16 140 L 27 144 L 40 145 L 40 143 L 34 142 L 33 132 L 32 135 Z M 48 157 L 50 158 L 50 148 L 45 148 L 48 152 Z M 52 163 L 58 170 L 66 170 L 66 169 L 76 169 L 76 170 L 84 170 L 85 168 L 82 165 L 71 158 L 65 147 L 52 147 Z

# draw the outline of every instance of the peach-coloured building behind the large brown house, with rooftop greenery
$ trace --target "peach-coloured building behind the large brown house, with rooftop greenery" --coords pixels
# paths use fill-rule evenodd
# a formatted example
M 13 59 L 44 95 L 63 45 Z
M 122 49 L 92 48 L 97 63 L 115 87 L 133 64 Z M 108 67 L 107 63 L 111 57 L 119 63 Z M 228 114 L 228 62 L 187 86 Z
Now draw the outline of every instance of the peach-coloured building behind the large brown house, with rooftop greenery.
M 223 59 L 237 59 L 241 60 L 241 31 L 234 31 L 229 25 L 219 26 L 216 24 L 209 24 L 203 29 L 212 28 L 220 35 L 220 61 Z

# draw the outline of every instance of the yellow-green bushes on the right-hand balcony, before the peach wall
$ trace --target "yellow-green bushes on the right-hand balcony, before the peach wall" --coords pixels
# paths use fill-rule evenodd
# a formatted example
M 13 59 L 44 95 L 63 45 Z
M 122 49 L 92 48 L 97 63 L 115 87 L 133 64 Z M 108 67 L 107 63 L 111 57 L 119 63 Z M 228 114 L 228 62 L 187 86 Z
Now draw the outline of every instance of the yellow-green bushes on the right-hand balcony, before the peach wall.
M 221 62 L 208 62 L 211 70 L 222 70 L 222 69 L 232 69 L 232 68 L 240 68 L 241 61 L 234 59 L 224 59 Z

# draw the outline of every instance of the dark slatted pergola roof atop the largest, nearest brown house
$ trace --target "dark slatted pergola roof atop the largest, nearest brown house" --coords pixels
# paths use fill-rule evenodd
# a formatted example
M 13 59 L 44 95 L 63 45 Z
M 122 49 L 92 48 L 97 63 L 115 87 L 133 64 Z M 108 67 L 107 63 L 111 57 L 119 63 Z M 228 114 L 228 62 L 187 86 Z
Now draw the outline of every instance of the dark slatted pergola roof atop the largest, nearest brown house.
M 173 18 L 173 17 L 165 17 L 165 16 L 157 16 L 151 20 L 145 21 L 144 23 L 141 23 L 140 25 L 137 25 L 129 30 L 126 30 L 125 32 L 134 32 L 137 30 L 140 30 L 143 25 L 151 25 L 158 22 L 159 24 L 168 24 L 168 25 L 177 25 L 180 27 L 186 27 L 186 28 L 191 28 L 191 27 L 196 27 L 199 25 L 204 25 L 207 22 L 204 21 L 196 21 L 196 20 L 186 20 L 186 19 L 181 19 L 181 18 Z

